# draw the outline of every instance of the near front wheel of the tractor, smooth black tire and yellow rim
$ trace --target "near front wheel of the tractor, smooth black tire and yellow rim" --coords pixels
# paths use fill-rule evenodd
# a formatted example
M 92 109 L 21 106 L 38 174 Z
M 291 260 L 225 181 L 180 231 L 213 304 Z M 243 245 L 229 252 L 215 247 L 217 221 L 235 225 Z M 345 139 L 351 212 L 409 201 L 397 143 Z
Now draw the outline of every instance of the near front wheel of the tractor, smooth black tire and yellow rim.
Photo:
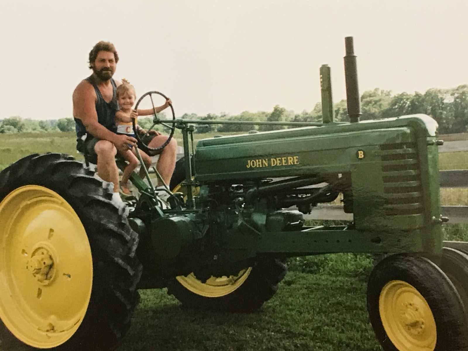
M 385 351 L 468 350 L 463 304 L 429 259 L 392 255 L 373 269 L 367 310 Z

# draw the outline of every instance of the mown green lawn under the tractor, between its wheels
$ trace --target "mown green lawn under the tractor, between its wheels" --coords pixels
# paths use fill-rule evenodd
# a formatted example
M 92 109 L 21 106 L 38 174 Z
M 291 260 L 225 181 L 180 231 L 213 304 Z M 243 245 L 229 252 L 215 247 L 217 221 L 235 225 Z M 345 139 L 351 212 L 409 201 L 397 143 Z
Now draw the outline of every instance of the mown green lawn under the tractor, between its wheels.
M 116 351 L 381 350 L 368 322 L 365 278 L 289 272 L 278 293 L 250 314 L 186 309 L 166 289 L 140 294 Z M 0 343 L 0 351 L 26 350 Z

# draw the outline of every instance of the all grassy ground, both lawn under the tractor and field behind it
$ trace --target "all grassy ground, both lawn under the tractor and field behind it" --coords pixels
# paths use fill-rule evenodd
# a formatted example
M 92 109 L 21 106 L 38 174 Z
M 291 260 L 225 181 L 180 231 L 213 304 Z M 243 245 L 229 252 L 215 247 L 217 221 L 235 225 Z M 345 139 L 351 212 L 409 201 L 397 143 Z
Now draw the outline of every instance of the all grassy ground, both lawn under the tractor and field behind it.
M 196 135 L 207 136 L 212 134 Z M 73 133 L 3 134 L 0 169 L 47 151 L 82 159 L 74 147 Z M 441 154 L 440 163 L 468 168 L 467 153 Z M 466 192 L 444 191 L 444 203 L 468 205 Z M 446 239 L 468 240 L 467 226 L 445 227 Z M 165 289 L 140 291 L 132 327 L 117 351 L 381 350 L 366 311 L 372 263 L 369 255 L 353 254 L 290 259 L 278 293 L 252 314 L 184 309 Z M 23 350 L 28 349 L 9 338 L 0 340 L 0 351 Z

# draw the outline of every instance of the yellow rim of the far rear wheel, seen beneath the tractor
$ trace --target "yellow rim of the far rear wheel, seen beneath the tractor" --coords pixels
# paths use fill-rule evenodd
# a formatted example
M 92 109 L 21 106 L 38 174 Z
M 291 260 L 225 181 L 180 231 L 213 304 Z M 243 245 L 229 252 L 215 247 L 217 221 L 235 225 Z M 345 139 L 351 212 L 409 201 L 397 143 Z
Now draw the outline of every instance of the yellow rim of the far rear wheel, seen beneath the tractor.
M 172 192 L 183 192 L 185 194 L 186 189 L 181 184 L 177 185 Z M 199 187 L 192 188 L 192 195 L 197 196 L 200 192 Z M 245 280 L 249 277 L 252 267 L 245 268 L 239 271 L 239 274 L 232 276 L 222 277 L 211 277 L 205 283 L 202 283 L 195 274 L 190 273 L 187 277 L 179 276 L 176 277 L 177 281 L 182 284 L 186 289 L 200 296 L 205 297 L 221 297 L 234 292 L 239 286 L 241 286 Z

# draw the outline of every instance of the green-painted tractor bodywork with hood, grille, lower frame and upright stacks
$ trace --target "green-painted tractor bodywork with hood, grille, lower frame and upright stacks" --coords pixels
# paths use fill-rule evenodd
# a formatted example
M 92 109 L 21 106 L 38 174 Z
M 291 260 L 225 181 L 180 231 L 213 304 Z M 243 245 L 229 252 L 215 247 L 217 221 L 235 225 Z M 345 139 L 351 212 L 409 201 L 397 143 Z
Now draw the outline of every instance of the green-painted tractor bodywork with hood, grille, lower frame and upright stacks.
M 182 211 L 163 210 L 162 212 L 161 209 L 154 209 L 160 217 L 164 214 L 168 216 L 201 214 L 203 209 L 196 208 L 192 189 L 194 186 L 201 186 L 200 191 L 204 193 L 207 191 L 204 189 L 204 184 L 207 183 L 296 176 L 298 177 L 297 184 L 300 184 L 301 176 L 346 174 L 350 177 L 352 184 L 358 184 L 353 198 L 354 220 L 349 225 L 302 227 L 301 230 L 288 230 L 287 232 L 267 231 L 265 221 L 271 209 L 263 208 L 262 204 L 250 204 L 252 214 L 249 218 L 250 224 L 242 217 L 244 210 L 239 208 L 237 213 L 242 227 L 234 227 L 220 234 L 222 245 L 219 245 L 218 252 L 213 252 L 213 258 L 205 257 L 198 261 L 198 264 L 221 264 L 228 267 L 232 263 L 248 260 L 259 254 L 304 256 L 334 252 L 406 252 L 428 256 L 434 261 L 440 258 L 443 245 L 441 224 L 445 219 L 440 215 L 438 150 L 435 140 L 437 124 L 425 115 L 359 123 L 361 113 L 352 38 L 347 38 L 346 44 L 344 59 L 350 122 L 335 121 L 331 75 L 327 65 L 322 65 L 320 68 L 322 123 L 160 120 L 154 116 L 155 124 L 173 124 L 181 130 L 185 158 L 185 180 L 182 185 L 186 188 L 187 198 L 184 209 Z M 204 139 L 198 142 L 197 157 L 194 157 L 193 132 L 196 126 L 207 124 L 274 124 L 297 128 Z M 273 144 L 275 150 L 279 151 L 271 151 Z M 403 145 L 401 150 L 392 149 L 394 145 L 400 144 Z M 406 144 L 411 146 L 407 147 Z M 382 145 L 390 148 L 380 147 Z M 289 167 L 288 164 L 283 168 L 252 169 L 252 167 L 246 170 L 246 164 L 248 165 L 249 160 L 252 161 L 255 157 L 286 159 L 287 154 L 282 154 L 282 150 L 293 150 L 295 154 L 300 155 L 302 162 L 300 167 Z M 350 161 L 355 157 L 356 151 L 365 152 L 367 158 L 360 160 L 358 157 Z M 403 156 L 405 153 L 416 154 L 417 159 L 397 157 L 395 161 L 391 158 L 383 161 L 384 158 L 382 158 L 382 156 L 394 154 Z M 199 170 L 195 177 L 192 158 L 194 162 L 197 162 L 197 170 Z M 323 161 L 320 163 L 317 160 Z M 404 167 L 403 170 L 390 170 L 386 171 L 387 173 L 382 170 L 384 167 L 392 169 L 394 165 L 412 165 L 415 162 L 418 164 L 416 170 L 413 168 L 405 170 Z M 141 165 L 145 167 L 143 162 Z M 227 171 L 220 171 L 220 169 L 227 169 Z M 385 177 L 390 178 L 417 175 L 419 180 L 414 183 L 419 184 L 421 190 L 417 190 L 417 194 L 403 193 L 402 197 L 421 197 L 422 205 L 402 203 L 402 205 L 395 206 L 403 212 L 402 215 L 396 219 L 388 217 L 383 210 L 385 205 L 382 204 L 385 204 L 386 199 L 397 198 L 400 194 L 386 194 L 383 191 L 382 182 L 385 182 L 382 178 L 384 176 L 375 176 L 383 173 Z M 149 180 L 147 170 L 146 177 Z M 143 195 L 153 195 L 153 198 L 157 200 L 154 189 L 151 189 L 152 194 L 149 194 L 147 185 L 136 174 L 132 175 L 131 180 Z M 408 183 L 402 181 L 402 183 L 405 182 Z M 280 188 L 282 184 L 271 186 Z M 264 191 L 268 191 L 268 185 L 263 188 L 266 189 Z M 380 192 L 376 189 L 380 189 Z M 144 200 L 146 201 L 145 197 Z M 154 202 L 156 203 L 157 201 Z M 415 206 L 422 207 L 421 212 L 416 215 L 404 213 L 405 209 L 410 211 Z M 391 205 L 388 207 L 392 208 Z M 153 211 L 153 208 L 150 211 Z M 131 223 L 140 233 L 146 233 L 149 229 L 138 218 L 134 218 Z M 152 224 L 146 223 L 146 225 Z

